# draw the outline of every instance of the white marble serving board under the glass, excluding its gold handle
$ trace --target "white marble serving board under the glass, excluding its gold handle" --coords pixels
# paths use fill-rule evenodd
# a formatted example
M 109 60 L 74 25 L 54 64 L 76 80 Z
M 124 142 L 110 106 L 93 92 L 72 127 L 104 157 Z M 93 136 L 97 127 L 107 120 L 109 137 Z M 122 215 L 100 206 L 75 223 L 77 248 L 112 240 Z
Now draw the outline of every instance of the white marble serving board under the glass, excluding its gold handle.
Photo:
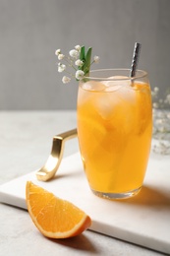
M 28 180 L 82 208 L 92 219 L 90 229 L 170 253 L 168 156 L 150 157 L 142 191 L 126 201 L 109 201 L 91 193 L 79 153 L 64 159 L 51 181 L 37 181 L 33 171 L 1 185 L 0 202 L 26 209 L 25 187 Z

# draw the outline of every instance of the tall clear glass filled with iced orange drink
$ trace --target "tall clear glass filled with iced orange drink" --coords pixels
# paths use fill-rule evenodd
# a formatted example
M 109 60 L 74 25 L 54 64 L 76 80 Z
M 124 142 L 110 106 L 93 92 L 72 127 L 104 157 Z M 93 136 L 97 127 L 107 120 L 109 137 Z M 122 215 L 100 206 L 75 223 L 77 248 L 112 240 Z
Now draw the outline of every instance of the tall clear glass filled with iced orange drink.
M 108 199 L 142 188 L 152 132 L 147 73 L 128 69 L 90 71 L 80 81 L 78 137 L 89 187 Z

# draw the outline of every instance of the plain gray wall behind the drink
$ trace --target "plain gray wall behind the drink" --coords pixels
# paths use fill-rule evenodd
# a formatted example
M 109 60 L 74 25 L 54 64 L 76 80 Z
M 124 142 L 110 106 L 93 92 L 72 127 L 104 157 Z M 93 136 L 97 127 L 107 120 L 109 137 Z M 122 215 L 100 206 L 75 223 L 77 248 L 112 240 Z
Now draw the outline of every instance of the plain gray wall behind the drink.
M 170 88 L 170 0 L 0 0 L 0 109 L 74 109 L 54 51 L 93 47 L 97 68 L 129 68 L 135 41 L 151 87 Z

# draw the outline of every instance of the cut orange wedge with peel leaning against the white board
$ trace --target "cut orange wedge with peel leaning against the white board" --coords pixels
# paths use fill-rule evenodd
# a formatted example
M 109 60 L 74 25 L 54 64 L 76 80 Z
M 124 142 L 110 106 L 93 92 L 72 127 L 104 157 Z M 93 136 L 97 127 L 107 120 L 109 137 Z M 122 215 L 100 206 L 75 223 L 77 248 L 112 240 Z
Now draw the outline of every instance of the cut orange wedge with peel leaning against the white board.
M 32 222 L 47 237 L 76 236 L 91 224 L 84 211 L 31 181 L 27 182 L 26 201 Z

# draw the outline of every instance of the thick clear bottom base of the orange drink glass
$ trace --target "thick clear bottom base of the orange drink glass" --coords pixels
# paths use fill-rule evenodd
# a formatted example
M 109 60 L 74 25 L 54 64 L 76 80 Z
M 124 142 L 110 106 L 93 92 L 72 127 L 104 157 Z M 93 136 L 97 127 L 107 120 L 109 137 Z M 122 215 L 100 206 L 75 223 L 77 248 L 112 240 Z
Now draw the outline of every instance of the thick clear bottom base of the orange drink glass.
M 94 195 L 96 195 L 98 197 L 102 197 L 102 198 L 110 199 L 110 200 L 119 200 L 119 199 L 127 199 L 127 198 L 137 195 L 140 192 L 141 188 L 142 187 L 125 192 L 125 193 L 104 193 L 104 192 L 99 192 L 99 191 L 95 191 L 92 189 L 91 189 L 91 191 Z

